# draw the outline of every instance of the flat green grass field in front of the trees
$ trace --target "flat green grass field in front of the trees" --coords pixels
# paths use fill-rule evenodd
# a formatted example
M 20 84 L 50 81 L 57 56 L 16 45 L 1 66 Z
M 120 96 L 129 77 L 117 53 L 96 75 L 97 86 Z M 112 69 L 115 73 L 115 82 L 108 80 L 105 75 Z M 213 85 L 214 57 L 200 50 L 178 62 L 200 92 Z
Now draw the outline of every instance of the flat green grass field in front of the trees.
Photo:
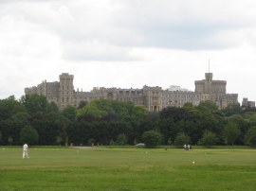
M 29 156 L 0 148 L 0 190 L 256 190 L 255 149 L 30 148 Z

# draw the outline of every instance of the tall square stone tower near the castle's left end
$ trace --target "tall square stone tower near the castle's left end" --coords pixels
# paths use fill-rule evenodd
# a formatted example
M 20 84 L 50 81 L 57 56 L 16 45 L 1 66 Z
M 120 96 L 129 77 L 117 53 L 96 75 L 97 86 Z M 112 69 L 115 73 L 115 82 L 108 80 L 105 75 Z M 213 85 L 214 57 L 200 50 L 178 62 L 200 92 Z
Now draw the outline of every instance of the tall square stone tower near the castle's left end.
M 61 109 L 68 105 L 73 105 L 73 75 L 68 75 L 68 73 L 63 73 L 60 75 L 60 92 L 59 92 L 59 106 Z

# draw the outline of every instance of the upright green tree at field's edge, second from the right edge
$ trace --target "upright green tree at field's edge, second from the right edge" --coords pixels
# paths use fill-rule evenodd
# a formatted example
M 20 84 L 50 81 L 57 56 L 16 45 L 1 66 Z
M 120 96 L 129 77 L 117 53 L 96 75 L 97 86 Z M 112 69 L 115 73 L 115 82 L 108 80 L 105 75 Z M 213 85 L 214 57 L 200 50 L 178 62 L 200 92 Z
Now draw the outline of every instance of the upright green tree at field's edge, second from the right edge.
M 228 122 L 224 128 L 224 137 L 228 144 L 234 145 L 234 142 L 238 139 L 241 130 L 239 130 L 238 125 L 234 122 Z

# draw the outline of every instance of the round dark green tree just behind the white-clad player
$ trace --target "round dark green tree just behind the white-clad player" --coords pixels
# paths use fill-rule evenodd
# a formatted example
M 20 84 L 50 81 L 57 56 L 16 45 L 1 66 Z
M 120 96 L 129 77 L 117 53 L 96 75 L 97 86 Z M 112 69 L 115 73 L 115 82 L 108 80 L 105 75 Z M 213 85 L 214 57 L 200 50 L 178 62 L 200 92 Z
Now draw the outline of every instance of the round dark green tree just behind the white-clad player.
M 33 145 L 38 141 L 38 132 L 31 126 L 26 126 L 21 130 L 20 137 L 22 143 Z

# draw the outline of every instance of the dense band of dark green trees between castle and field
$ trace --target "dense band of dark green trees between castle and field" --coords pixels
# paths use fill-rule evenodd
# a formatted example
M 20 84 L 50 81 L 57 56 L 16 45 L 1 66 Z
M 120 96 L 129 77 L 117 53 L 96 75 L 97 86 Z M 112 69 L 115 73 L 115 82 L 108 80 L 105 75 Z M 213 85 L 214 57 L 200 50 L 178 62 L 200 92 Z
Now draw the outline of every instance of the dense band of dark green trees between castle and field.
M 256 146 L 256 111 L 202 101 L 147 112 L 132 102 L 96 99 L 60 111 L 46 96 L 0 99 L 1 145 L 249 145 Z

